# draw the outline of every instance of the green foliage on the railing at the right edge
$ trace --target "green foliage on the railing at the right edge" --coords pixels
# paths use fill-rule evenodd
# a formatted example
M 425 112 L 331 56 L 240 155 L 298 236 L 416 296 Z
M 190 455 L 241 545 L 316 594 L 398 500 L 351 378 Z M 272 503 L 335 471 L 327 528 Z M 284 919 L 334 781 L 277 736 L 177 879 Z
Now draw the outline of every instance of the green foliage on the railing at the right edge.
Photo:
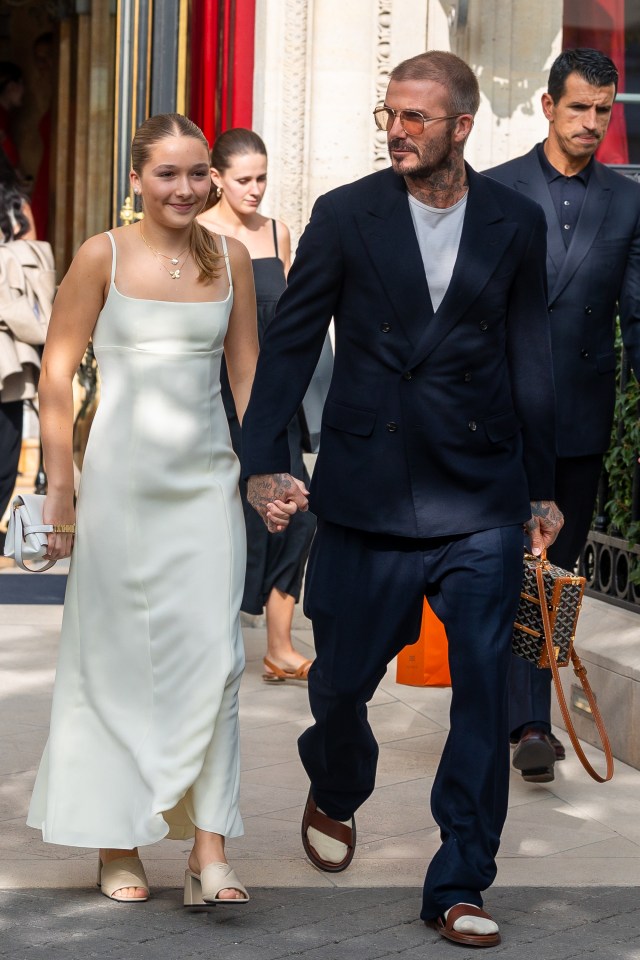
M 617 340 L 620 345 L 619 330 Z M 621 389 L 621 373 L 619 365 L 611 446 L 604 460 L 610 493 L 606 511 L 609 533 L 627 540 L 632 547 L 640 542 L 640 520 L 633 520 L 631 516 L 633 478 L 640 456 L 640 384 L 630 373 Z M 631 580 L 640 583 L 637 562 L 633 565 Z

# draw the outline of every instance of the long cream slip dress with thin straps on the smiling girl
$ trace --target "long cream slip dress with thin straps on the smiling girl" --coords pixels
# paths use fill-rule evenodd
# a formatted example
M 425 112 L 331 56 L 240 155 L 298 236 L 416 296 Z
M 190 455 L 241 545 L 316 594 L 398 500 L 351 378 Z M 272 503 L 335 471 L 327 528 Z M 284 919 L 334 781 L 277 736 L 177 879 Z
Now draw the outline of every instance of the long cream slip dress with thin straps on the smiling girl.
M 82 847 L 235 837 L 246 541 L 220 398 L 226 243 L 226 299 L 172 303 L 118 292 L 107 235 L 101 398 L 27 822 Z

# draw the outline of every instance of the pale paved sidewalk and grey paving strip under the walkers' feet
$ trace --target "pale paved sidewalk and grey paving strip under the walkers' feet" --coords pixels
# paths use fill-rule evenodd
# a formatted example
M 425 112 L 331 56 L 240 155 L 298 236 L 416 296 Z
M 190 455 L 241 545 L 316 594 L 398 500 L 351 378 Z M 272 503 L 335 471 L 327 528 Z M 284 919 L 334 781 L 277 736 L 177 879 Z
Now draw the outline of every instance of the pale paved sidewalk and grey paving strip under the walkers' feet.
M 147 904 L 99 896 L 94 851 L 44 845 L 24 825 L 47 734 L 60 617 L 59 606 L 0 606 L 0 956 L 477 956 L 418 919 L 425 864 L 438 846 L 427 798 L 446 736 L 448 691 L 400 686 L 389 672 L 370 710 L 381 744 L 378 786 L 358 813 L 356 858 L 345 873 L 320 873 L 299 839 L 307 782 L 295 741 L 309 722 L 306 691 L 261 681 L 265 633 L 255 626 L 245 629 L 241 705 L 246 835 L 228 845 L 250 903 L 184 911 L 179 888 L 189 845 L 179 841 L 143 849 L 154 890 Z M 311 653 L 301 615 L 295 633 Z M 599 751 L 586 752 L 602 768 Z M 498 879 L 486 897 L 503 935 L 491 956 L 640 960 L 640 772 L 617 763 L 613 782 L 601 786 L 571 755 L 556 769 L 548 785 L 513 773 Z

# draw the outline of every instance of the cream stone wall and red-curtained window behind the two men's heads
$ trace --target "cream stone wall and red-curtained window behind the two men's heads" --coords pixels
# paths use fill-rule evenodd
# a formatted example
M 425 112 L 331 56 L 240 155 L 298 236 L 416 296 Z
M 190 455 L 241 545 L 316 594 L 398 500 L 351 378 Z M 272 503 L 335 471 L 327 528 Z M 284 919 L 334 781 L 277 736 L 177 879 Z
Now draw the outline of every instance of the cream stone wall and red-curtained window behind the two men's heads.
M 639 0 L 256 0 L 253 124 L 270 151 L 270 212 L 298 235 L 313 201 L 388 163 L 371 111 L 389 70 L 451 50 L 478 76 L 467 158 L 486 169 L 545 136 L 540 97 L 563 47 L 596 46 L 620 73 L 608 163 L 640 163 Z M 635 100 L 634 100 L 635 97 Z

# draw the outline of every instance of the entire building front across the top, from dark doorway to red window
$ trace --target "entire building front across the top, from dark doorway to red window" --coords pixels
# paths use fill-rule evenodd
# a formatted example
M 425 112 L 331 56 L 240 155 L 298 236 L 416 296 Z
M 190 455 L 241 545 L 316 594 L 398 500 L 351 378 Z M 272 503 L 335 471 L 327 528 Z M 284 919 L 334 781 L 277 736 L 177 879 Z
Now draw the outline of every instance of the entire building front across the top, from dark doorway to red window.
M 0 58 L 26 81 L 14 132 L 32 182 L 47 166 L 60 271 L 85 237 L 135 215 L 129 143 L 152 113 L 187 113 L 211 142 L 257 130 L 266 212 L 295 239 L 319 194 L 386 165 L 371 112 L 400 60 L 441 49 L 471 64 L 482 101 L 468 159 L 482 170 L 544 136 L 549 66 L 578 45 L 621 71 L 601 159 L 640 162 L 640 0 L 0 0 Z

